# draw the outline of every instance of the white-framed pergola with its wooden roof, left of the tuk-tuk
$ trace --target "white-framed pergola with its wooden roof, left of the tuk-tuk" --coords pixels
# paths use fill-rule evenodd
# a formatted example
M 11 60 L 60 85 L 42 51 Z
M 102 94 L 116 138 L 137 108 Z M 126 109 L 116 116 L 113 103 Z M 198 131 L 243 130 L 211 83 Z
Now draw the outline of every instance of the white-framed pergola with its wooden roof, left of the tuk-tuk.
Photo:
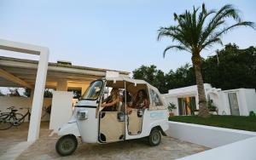
M 32 89 L 32 115 L 28 130 L 28 141 L 38 139 L 44 89 L 87 89 L 91 81 L 105 77 L 108 71 L 100 68 L 72 66 L 71 63 L 49 63 L 49 49 L 26 43 L 0 39 L 0 49 L 39 55 L 39 60 L 21 60 L 0 56 L 0 87 L 21 87 Z M 129 72 L 119 72 L 128 76 Z

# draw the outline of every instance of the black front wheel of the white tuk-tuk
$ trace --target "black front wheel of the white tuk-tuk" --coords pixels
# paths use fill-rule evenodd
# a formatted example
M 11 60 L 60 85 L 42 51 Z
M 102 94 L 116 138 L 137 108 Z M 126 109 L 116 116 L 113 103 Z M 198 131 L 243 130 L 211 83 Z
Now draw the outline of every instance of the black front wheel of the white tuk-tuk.
M 73 153 L 78 147 L 77 138 L 72 135 L 64 135 L 62 136 L 56 143 L 55 150 L 61 156 L 68 156 Z

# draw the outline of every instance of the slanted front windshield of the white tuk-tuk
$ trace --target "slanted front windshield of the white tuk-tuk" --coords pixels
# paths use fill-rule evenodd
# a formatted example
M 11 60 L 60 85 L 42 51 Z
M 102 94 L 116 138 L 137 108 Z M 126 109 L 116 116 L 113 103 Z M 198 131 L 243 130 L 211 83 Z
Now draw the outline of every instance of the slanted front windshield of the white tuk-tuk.
M 102 80 L 97 80 L 93 83 L 90 83 L 89 88 L 86 89 L 82 98 L 84 100 L 97 100 L 99 95 L 101 94 L 102 86 Z

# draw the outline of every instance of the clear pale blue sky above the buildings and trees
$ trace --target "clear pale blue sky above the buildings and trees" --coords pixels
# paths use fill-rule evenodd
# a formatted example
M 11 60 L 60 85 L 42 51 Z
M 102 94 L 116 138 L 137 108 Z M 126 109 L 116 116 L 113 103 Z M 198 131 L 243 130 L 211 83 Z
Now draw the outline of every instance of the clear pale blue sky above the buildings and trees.
M 73 65 L 133 71 L 142 65 L 155 65 L 168 72 L 189 62 L 191 55 L 172 50 L 162 53 L 172 40 L 157 41 L 160 26 L 175 25 L 173 13 L 200 7 L 220 9 L 231 3 L 241 10 L 243 20 L 256 22 L 253 0 L 0 0 L 0 38 L 49 48 L 49 61 L 72 61 Z M 223 37 L 224 44 L 241 49 L 256 46 L 256 31 L 242 27 Z M 213 55 L 212 49 L 202 52 Z M 0 50 L 2 56 L 38 60 Z

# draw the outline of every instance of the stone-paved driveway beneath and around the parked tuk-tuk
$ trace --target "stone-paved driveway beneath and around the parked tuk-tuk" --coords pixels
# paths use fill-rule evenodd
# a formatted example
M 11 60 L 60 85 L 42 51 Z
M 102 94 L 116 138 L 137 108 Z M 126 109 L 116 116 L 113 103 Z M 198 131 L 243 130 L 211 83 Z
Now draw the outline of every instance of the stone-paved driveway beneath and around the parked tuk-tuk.
M 22 127 L 22 126 L 20 126 Z M 20 137 L 26 135 L 26 125 L 18 131 L 12 133 L 12 136 Z M 111 143 L 111 144 L 82 144 L 79 142 L 77 151 L 72 156 L 60 157 L 55 152 L 55 142 L 58 139 L 56 135 L 49 136 L 47 131 L 48 125 L 43 123 L 41 128 L 40 139 L 37 140 L 32 146 L 29 146 L 23 151 L 18 160 L 26 159 L 176 159 L 178 157 L 185 157 L 195 154 L 200 151 L 205 151 L 208 148 L 198 146 L 192 143 L 176 140 L 171 137 L 163 137 L 160 146 L 148 146 L 144 140 L 128 140 L 124 142 Z M 25 129 L 23 129 L 25 128 Z M 45 129 L 44 129 L 45 128 Z M 22 131 L 23 130 L 23 131 Z M 11 130 L 10 130 L 11 131 Z M 16 135 L 15 135 L 16 134 Z M 0 133 L 0 136 L 3 134 Z M 6 134 L 5 134 L 6 136 Z M 2 139 L 3 137 L 1 137 Z M 14 140 L 17 140 L 15 138 Z M 9 140 L 11 142 L 11 140 Z M 3 146 L 0 145 L 1 149 Z M 1 152 L 0 152 L 1 153 Z

